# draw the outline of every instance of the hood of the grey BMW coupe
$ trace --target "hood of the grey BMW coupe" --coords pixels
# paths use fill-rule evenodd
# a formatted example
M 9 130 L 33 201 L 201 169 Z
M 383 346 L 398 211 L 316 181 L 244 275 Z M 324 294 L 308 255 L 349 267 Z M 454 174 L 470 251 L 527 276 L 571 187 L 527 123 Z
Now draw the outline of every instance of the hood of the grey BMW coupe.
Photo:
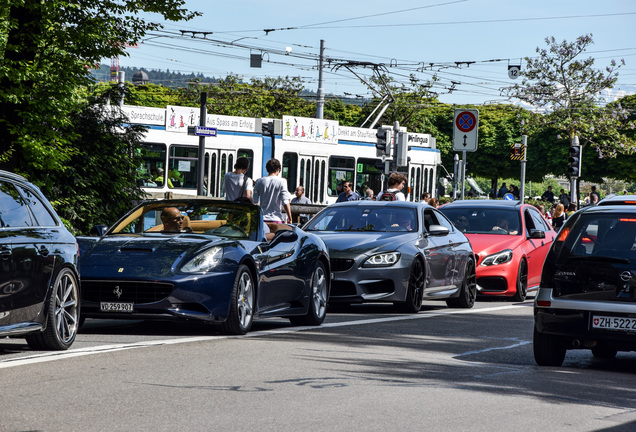
M 332 258 L 338 255 L 371 255 L 382 251 L 397 250 L 404 243 L 415 242 L 417 233 L 395 232 L 315 232 L 329 248 Z

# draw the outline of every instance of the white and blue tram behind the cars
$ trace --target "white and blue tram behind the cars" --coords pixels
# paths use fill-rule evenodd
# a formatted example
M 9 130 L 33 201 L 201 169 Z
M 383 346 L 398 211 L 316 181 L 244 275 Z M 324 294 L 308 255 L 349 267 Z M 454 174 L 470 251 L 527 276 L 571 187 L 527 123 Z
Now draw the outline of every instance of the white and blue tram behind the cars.
M 142 189 L 151 197 L 197 194 L 199 178 L 199 137 L 188 127 L 200 124 L 199 108 L 167 106 L 165 109 L 124 105 L 130 123 L 148 130 L 142 145 L 143 166 L 139 169 Z M 273 133 L 264 134 L 263 124 L 271 123 Z M 314 204 L 336 201 L 345 181 L 355 184 L 365 196 L 367 188 L 382 190 L 382 159 L 376 153 L 376 130 L 340 126 L 337 121 L 283 116 L 282 119 L 250 118 L 208 114 L 206 126 L 217 129 L 205 138 L 205 195 L 222 198 L 223 176 L 232 171 L 238 157 L 250 159 L 248 177 L 266 176 L 265 164 L 272 157 L 282 165 L 281 176 L 293 194 L 297 186 Z M 421 194 L 435 196 L 437 167 L 441 155 L 428 134 L 409 133 L 408 178 L 405 196 L 418 201 Z M 168 193 L 168 194 L 167 194 Z

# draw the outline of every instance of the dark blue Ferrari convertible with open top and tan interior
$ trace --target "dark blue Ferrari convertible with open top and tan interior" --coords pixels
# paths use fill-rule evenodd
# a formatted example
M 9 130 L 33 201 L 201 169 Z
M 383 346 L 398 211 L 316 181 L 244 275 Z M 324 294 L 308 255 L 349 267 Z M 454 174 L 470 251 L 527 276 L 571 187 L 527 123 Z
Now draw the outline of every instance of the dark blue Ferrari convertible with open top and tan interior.
M 294 226 L 266 225 L 256 205 L 148 201 L 78 243 L 83 318 L 200 320 L 228 334 L 245 334 L 258 317 L 325 319 L 325 244 Z

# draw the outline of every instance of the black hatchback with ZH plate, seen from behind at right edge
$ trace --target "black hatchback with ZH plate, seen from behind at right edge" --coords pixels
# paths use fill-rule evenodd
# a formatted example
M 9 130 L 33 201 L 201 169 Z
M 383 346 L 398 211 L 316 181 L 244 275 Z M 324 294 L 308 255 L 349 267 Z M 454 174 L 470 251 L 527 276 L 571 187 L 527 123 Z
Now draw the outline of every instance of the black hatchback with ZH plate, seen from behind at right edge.
M 597 358 L 636 350 L 636 195 L 574 213 L 543 265 L 534 301 L 534 358 L 560 366 L 570 349 Z

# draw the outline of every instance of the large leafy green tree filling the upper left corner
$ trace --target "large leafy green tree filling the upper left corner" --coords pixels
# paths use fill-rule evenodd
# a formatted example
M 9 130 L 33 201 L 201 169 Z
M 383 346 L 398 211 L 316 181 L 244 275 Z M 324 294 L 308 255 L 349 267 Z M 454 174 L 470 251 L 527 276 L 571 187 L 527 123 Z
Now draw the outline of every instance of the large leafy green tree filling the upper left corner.
M 185 0 L 7 0 L 0 14 L 0 168 L 34 181 L 64 172 L 78 149 L 70 145 L 80 86 L 102 58 L 126 55 L 161 24 L 196 15 Z M 132 179 L 131 179 L 132 181 Z M 44 186 L 45 193 L 51 184 Z

